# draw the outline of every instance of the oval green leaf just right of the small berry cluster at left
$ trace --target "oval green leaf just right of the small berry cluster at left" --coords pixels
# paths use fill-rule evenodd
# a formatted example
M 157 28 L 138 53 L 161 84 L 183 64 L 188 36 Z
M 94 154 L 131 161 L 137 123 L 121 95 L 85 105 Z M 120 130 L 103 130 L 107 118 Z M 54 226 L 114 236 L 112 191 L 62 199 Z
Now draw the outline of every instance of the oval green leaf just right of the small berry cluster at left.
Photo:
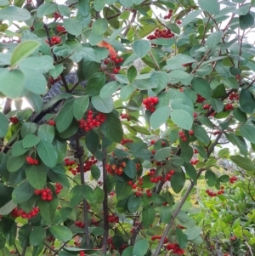
M 58 161 L 58 153 L 55 151 L 54 146 L 46 140 L 41 140 L 37 145 L 37 153 L 42 162 L 49 168 L 54 168 Z

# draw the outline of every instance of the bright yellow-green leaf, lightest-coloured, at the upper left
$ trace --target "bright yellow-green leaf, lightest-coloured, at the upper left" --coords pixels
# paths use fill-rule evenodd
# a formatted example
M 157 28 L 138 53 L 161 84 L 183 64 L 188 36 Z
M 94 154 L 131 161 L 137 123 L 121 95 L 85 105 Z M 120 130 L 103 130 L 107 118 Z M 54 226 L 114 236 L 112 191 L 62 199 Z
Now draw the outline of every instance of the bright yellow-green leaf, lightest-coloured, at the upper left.
M 20 60 L 25 59 L 33 52 L 35 52 L 37 48 L 39 48 L 39 46 L 40 43 L 34 40 L 27 40 L 22 43 L 19 43 L 14 48 L 10 64 L 12 66 L 16 65 L 17 63 L 19 63 Z

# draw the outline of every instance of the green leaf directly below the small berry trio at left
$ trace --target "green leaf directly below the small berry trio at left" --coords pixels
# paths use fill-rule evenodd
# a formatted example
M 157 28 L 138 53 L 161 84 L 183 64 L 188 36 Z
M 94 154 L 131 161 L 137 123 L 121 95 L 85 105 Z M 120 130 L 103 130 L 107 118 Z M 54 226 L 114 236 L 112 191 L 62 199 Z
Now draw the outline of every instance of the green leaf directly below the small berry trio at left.
M 42 190 L 46 185 L 48 169 L 43 164 L 40 165 L 28 165 L 25 169 L 26 179 L 30 185 L 37 189 Z

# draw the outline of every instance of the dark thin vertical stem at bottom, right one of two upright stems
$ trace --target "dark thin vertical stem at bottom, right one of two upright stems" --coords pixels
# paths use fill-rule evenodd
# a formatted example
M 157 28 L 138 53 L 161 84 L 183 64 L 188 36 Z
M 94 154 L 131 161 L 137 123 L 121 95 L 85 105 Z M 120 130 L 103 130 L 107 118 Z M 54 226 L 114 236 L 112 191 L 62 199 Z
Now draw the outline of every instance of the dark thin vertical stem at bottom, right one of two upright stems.
M 104 236 L 102 241 L 102 254 L 107 252 L 108 247 L 108 236 L 109 236 L 109 222 L 108 222 L 108 193 L 107 193 L 107 170 L 106 170 L 106 149 L 103 149 L 104 159 L 103 159 L 103 190 L 104 190 L 104 201 L 103 201 L 103 217 L 104 217 Z

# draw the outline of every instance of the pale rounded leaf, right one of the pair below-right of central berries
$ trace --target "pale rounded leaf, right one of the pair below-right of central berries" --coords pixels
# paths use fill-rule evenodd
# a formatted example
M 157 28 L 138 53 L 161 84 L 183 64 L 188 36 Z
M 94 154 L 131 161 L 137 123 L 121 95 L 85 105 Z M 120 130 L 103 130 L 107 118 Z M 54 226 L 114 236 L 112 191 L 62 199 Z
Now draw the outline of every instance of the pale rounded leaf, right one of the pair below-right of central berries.
M 171 119 L 179 128 L 185 130 L 190 130 L 192 128 L 193 117 L 191 117 L 190 113 L 187 111 L 173 110 L 171 112 Z

